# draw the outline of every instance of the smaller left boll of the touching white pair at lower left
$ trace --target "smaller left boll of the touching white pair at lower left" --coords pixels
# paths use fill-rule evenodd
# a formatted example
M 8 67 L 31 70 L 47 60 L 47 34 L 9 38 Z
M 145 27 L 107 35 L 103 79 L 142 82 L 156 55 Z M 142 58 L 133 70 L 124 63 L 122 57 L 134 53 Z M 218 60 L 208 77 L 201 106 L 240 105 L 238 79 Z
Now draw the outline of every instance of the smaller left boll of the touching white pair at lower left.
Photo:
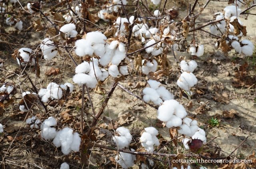
M 53 117 L 49 117 L 48 119 L 44 120 L 41 125 L 41 136 L 45 140 L 52 140 L 56 136 L 56 128 L 52 126 L 56 126 L 57 121 Z

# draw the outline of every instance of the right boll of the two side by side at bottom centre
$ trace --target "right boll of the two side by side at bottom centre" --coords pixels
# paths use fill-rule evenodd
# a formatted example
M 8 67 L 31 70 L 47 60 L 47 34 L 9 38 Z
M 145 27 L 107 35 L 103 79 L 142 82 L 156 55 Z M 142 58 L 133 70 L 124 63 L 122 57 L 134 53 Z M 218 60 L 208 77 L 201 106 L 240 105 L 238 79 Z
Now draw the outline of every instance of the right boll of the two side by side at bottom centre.
M 146 132 L 143 132 L 140 137 L 141 145 L 146 149 L 148 152 L 154 151 L 154 146 L 160 145 L 158 138 L 158 131 L 154 127 L 145 128 Z

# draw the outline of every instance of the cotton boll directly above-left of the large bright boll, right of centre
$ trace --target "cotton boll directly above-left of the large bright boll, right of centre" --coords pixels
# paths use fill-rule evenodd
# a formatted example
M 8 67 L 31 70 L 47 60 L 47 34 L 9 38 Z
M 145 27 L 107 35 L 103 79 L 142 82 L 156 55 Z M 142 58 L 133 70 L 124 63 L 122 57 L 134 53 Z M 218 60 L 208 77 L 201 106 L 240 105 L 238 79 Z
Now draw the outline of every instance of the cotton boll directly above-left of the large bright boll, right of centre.
M 152 101 L 156 105 L 161 105 L 163 100 L 171 100 L 174 98 L 173 94 L 169 92 L 164 86 L 160 86 L 161 83 L 154 80 L 148 80 L 150 87 L 146 87 L 142 90 L 145 102 Z

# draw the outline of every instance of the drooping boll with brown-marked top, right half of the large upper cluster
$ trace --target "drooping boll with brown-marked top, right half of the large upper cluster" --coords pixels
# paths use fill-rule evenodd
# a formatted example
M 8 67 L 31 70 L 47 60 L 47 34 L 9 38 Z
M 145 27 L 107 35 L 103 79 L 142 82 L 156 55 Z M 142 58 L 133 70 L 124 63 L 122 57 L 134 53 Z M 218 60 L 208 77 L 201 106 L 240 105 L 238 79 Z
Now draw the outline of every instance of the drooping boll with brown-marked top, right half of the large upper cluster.
M 118 40 L 106 43 L 103 55 L 100 56 L 100 65 L 106 66 L 110 62 L 112 65 L 118 66 L 126 57 L 126 47 L 123 42 Z

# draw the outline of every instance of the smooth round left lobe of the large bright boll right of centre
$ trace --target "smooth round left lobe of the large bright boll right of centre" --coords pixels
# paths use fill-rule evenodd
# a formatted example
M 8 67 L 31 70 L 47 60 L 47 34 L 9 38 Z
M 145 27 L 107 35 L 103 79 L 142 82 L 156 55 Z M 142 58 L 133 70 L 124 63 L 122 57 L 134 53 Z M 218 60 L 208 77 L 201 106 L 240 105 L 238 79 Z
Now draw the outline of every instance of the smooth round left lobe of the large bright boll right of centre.
M 171 105 L 162 104 L 161 106 L 159 106 L 157 110 L 157 118 L 162 122 L 168 122 L 172 118 L 173 113 L 174 113 L 174 108 Z

